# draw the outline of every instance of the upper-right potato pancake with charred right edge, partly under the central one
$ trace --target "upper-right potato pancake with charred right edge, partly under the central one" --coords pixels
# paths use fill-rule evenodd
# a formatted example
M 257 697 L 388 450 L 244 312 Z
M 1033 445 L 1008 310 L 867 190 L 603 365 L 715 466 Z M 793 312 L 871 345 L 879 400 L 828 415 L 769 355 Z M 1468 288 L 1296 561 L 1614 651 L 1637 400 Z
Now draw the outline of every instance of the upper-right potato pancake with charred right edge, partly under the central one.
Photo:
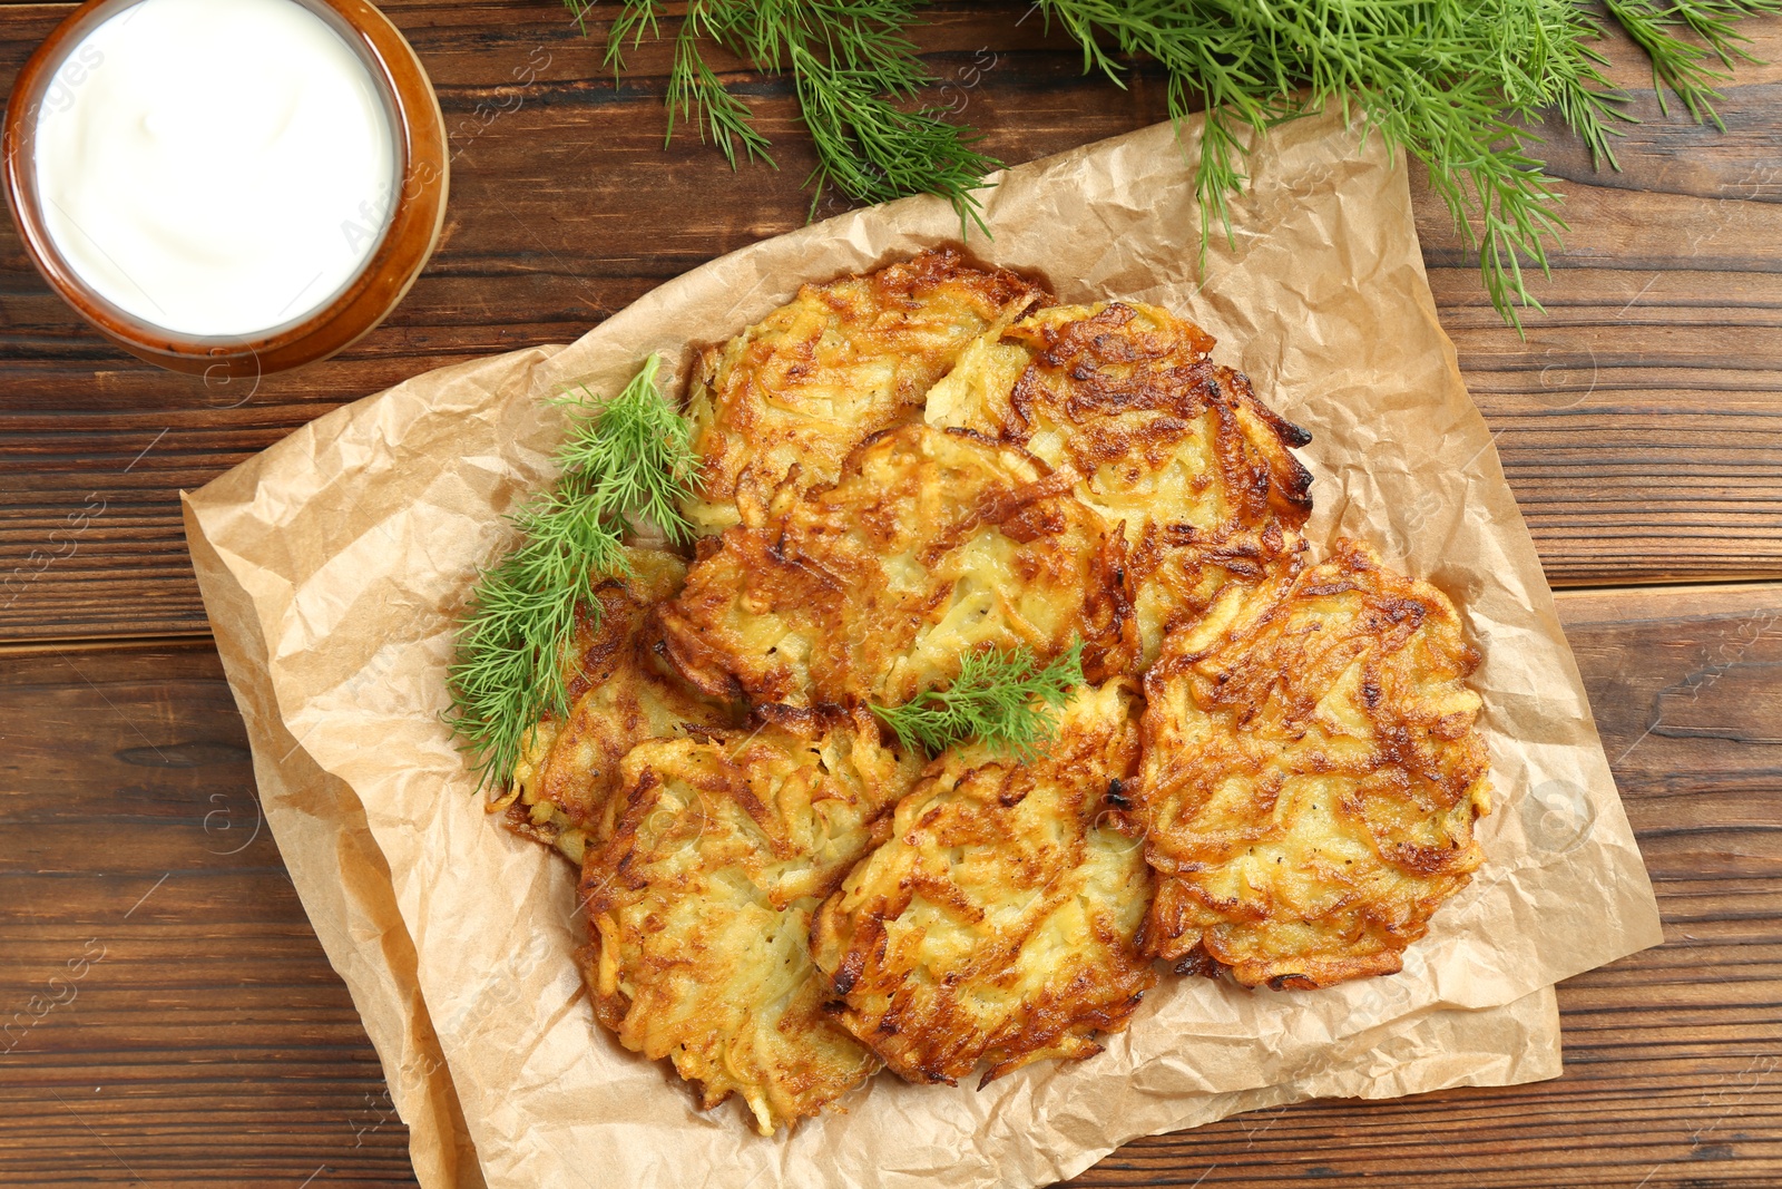
M 928 392 L 930 424 L 1021 446 L 1124 524 L 1140 665 L 1226 581 L 1265 581 L 1296 554 L 1312 513 L 1312 474 L 1290 449 L 1310 435 L 1212 346 L 1151 305 L 1051 307 L 991 328 Z

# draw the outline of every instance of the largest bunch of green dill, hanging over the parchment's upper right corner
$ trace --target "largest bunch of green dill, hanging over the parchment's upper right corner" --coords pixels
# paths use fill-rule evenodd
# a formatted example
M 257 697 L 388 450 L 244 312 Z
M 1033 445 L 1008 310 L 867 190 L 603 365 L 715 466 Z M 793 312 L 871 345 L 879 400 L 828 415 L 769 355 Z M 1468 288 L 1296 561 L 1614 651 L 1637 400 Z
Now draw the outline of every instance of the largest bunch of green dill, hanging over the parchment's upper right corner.
M 1572 0 L 1037 0 L 1085 46 L 1085 68 L 1121 80 L 1126 55 L 1169 70 L 1180 123 L 1206 102 L 1196 171 L 1201 250 L 1230 235 L 1226 196 L 1242 189 L 1244 127 L 1265 130 L 1329 102 L 1358 111 L 1429 168 L 1429 185 L 1479 253 L 1499 314 L 1536 307 L 1524 262 L 1547 269 L 1565 230 L 1529 128 L 1557 109 L 1609 155 L 1616 93 L 1588 45 L 1597 29 Z

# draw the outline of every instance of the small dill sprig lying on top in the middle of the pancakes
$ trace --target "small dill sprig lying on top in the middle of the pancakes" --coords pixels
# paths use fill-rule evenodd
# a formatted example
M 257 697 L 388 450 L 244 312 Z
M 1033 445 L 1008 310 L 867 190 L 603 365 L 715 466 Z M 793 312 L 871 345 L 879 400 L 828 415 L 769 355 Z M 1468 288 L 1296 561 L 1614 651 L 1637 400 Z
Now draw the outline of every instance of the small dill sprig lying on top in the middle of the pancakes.
M 1026 645 L 969 652 L 944 690 L 927 690 L 896 708 L 870 706 L 911 750 L 936 754 L 977 738 L 1028 761 L 1053 738 L 1053 711 L 1083 683 L 1083 642 L 1041 667 Z

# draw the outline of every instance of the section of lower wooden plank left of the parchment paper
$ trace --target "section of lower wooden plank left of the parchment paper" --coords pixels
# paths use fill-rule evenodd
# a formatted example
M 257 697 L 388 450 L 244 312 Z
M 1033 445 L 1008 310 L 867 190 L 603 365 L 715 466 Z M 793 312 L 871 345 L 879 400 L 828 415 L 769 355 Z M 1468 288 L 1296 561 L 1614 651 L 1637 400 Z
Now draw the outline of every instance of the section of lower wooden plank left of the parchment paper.
M 412 1182 L 208 645 L 7 654 L 0 706 L 0 1182 Z

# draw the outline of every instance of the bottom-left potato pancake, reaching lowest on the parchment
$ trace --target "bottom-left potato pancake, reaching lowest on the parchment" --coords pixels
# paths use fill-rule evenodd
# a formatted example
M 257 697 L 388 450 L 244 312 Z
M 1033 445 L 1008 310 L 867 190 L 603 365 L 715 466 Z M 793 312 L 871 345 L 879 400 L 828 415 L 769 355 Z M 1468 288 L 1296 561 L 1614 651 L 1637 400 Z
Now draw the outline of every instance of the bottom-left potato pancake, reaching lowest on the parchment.
M 918 772 L 864 713 L 816 738 L 633 749 L 581 875 L 601 1023 L 700 1082 L 706 1107 L 741 1095 L 763 1136 L 864 1082 L 879 1061 L 823 1013 L 811 914 Z

